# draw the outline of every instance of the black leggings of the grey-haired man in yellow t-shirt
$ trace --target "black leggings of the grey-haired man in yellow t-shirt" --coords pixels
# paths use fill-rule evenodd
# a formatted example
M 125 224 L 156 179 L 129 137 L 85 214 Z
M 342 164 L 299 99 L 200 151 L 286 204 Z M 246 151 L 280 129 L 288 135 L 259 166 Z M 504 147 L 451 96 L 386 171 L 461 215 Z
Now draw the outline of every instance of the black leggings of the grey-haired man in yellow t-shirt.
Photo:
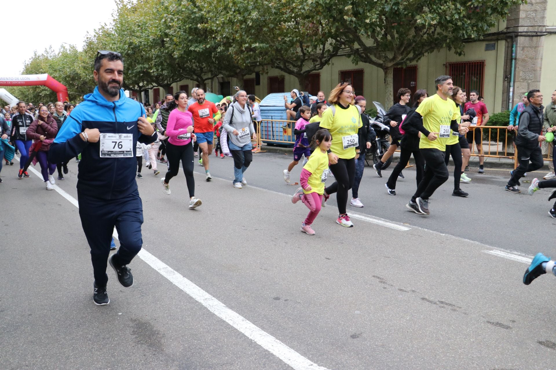
M 421 154 L 423 154 L 426 163 L 425 176 L 417 186 L 417 191 L 415 191 L 411 201 L 415 201 L 418 197 L 428 200 L 433 192 L 450 177 L 448 167 L 444 163 L 445 155 L 443 151 L 426 148 L 421 149 Z

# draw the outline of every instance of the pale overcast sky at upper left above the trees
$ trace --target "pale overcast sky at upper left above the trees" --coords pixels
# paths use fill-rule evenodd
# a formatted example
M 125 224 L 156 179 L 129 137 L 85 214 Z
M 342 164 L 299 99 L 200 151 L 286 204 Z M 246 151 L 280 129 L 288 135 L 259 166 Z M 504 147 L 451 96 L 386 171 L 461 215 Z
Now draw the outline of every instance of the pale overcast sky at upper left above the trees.
M 68 43 L 81 50 L 87 32 L 110 23 L 115 9 L 114 0 L 27 0 L 23 6 L 12 8 L 11 14 L 4 14 L 0 21 L 4 40 L 10 45 L 8 51 L 4 50 L 0 74 L 21 74 L 23 62 L 31 59 L 33 51 L 41 53 L 49 45 L 58 50 L 62 43 Z

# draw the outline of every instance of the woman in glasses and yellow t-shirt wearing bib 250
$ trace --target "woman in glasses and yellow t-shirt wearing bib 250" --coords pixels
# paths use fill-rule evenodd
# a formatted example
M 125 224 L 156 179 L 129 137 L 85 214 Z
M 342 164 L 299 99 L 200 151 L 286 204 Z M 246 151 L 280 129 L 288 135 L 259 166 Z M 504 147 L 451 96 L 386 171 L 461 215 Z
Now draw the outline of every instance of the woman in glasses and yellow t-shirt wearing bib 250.
M 326 187 L 322 197 L 322 206 L 330 194 L 336 194 L 339 216 L 336 223 L 353 227 L 346 213 L 347 192 L 355 179 L 355 158 L 359 155 L 359 129 L 363 126 L 359 108 L 354 105 L 355 91 L 350 83 L 339 83 L 330 92 L 329 109 L 322 113 L 320 128 L 327 129 L 332 135 L 332 144 L 328 151 L 330 170 L 336 179 L 335 183 Z

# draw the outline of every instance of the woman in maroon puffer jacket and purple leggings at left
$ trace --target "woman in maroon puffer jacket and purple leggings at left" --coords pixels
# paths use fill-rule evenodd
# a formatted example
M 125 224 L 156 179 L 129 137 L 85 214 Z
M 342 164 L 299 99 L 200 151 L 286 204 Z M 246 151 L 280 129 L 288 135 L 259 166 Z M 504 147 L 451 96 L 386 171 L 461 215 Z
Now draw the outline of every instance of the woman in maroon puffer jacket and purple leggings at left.
M 56 120 L 54 120 L 52 114 L 48 113 L 47 107 L 41 107 L 37 119 L 31 123 L 26 134 L 28 139 L 33 139 L 35 142 L 42 141 L 41 149 L 37 152 L 37 159 L 41 165 L 41 174 L 44 183 L 46 183 L 46 190 L 54 190 L 52 185 L 55 181 L 52 174 L 56 171 L 56 163 L 48 161 L 48 150 L 57 133 L 58 124 Z

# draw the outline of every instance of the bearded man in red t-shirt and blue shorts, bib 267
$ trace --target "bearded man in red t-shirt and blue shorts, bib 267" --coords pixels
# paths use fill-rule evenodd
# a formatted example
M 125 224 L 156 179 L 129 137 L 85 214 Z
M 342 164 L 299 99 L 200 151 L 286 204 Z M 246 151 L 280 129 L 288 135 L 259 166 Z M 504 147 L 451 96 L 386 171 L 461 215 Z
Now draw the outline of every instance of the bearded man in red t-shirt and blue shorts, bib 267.
M 205 100 L 205 90 L 197 89 L 195 93 L 197 102 L 191 104 L 187 110 L 193 115 L 193 127 L 195 128 L 195 136 L 197 136 L 197 144 L 199 144 L 203 153 L 202 165 L 205 167 L 205 180 L 210 181 L 212 177 L 209 172 L 209 156 L 212 153 L 212 139 L 214 138 L 213 125 L 219 120 L 220 111 L 214 103 Z

